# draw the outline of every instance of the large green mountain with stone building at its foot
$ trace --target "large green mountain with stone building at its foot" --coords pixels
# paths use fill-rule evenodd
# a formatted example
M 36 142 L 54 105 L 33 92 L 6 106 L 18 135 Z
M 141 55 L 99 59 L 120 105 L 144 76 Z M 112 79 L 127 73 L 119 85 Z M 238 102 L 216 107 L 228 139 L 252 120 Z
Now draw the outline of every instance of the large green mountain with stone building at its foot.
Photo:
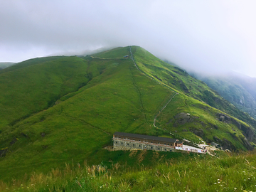
M 231 150 L 256 143 L 255 119 L 137 46 L 26 60 L 0 71 L 0 89 L 0 179 L 110 161 L 103 148 L 117 131 Z

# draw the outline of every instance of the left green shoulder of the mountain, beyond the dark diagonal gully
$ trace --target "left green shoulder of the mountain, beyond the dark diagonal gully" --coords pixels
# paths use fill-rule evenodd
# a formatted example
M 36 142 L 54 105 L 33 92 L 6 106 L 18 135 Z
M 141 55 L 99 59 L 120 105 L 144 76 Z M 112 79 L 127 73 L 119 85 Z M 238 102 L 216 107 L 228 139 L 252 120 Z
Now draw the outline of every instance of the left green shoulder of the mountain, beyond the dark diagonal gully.
M 45 110 L 78 90 L 90 80 L 86 70 L 86 61 L 75 57 L 28 60 L 2 70 L 0 127 Z

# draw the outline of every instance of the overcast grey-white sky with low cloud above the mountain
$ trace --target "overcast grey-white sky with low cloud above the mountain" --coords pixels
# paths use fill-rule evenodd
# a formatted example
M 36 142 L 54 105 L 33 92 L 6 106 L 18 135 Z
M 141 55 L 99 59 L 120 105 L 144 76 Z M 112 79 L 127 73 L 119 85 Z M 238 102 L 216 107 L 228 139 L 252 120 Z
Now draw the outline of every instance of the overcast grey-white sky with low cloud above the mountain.
M 0 0 L 0 62 L 136 45 L 186 70 L 256 77 L 255 10 L 255 0 Z

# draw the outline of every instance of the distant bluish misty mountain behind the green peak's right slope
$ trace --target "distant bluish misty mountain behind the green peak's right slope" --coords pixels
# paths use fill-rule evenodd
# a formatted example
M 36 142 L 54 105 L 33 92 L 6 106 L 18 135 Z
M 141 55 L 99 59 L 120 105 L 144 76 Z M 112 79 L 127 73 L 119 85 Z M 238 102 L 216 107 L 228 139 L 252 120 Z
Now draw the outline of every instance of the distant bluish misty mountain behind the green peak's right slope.
M 256 79 L 238 73 L 225 75 L 201 76 L 193 75 L 203 80 L 213 90 L 222 95 L 235 107 L 247 112 L 256 119 Z

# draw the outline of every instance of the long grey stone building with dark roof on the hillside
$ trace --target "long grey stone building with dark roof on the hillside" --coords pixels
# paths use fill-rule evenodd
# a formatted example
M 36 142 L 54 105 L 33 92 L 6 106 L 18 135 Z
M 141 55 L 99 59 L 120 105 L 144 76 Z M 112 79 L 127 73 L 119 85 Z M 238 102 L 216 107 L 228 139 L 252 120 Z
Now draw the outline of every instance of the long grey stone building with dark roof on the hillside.
M 167 137 L 155 137 L 143 134 L 115 132 L 113 135 L 114 149 L 141 149 L 154 151 L 176 151 L 183 147 L 183 142 Z

